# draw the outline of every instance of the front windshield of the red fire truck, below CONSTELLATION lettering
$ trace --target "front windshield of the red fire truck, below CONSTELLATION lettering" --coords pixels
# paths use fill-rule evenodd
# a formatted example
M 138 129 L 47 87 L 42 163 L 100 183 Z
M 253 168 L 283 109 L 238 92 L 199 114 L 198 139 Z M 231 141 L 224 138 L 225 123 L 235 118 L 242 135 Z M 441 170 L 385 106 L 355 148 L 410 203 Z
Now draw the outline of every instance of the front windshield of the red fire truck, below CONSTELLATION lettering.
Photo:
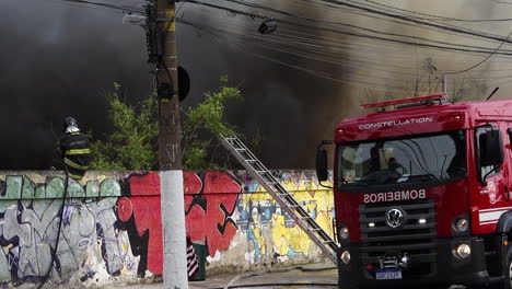
M 466 175 L 464 130 L 341 143 L 337 150 L 338 188 L 446 182 Z

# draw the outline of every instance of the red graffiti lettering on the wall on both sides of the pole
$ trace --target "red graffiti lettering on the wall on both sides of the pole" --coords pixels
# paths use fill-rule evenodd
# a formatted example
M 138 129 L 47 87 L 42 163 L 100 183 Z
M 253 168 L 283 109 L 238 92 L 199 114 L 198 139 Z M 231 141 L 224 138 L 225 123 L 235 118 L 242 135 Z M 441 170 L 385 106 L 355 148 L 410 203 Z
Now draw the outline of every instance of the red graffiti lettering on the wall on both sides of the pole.
M 133 217 L 139 236 L 149 233 L 144 254 L 147 269 L 162 274 L 160 175 L 156 172 L 131 175 L 129 189 L 130 197 L 119 198 L 117 203 L 117 216 L 123 222 Z M 208 241 L 212 256 L 217 251 L 228 250 L 236 233 L 231 215 L 242 190 L 241 185 L 224 172 L 206 172 L 202 180 L 194 172 L 184 172 L 184 190 L 185 208 L 189 209 L 186 216 L 187 234 L 193 241 Z

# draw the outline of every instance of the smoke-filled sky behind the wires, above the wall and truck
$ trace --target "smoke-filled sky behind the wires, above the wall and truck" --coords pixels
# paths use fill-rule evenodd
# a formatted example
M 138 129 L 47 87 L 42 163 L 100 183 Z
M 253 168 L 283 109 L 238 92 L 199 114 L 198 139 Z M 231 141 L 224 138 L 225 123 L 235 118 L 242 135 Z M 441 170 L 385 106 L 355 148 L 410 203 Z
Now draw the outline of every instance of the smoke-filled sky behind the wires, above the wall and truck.
M 389 21 L 369 21 L 347 11 L 325 9 L 318 1 L 313 1 L 314 4 L 299 0 L 251 2 L 325 21 L 459 41 L 489 49 L 500 44 L 457 38 Z M 449 4 L 441 0 L 428 1 L 429 4 L 419 0 L 382 2 L 466 19 L 505 18 L 511 8 L 482 0 L 453 0 Z M 486 56 L 440 53 L 287 25 L 280 25 L 275 35 L 263 36 L 257 33 L 259 20 L 191 3 L 184 4 L 178 15 L 232 36 L 219 37 L 178 24 L 178 61 L 191 78 L 190 93 L 182 106 L 194 105 L 205 92 L 217 90 L 219 77 L 228 74 L 230 83 L 238 86 L 244 95 L 243 101 L 229 104 L 228 122 L 248 139 L 258 140 L 255 151 L 271 169 L 313 169 L 316 144 L 322 139 L 333 138 L 336 124 L 345 117 L 365 113 L 359 108 L 362 102 L 382 99 L 386 91 L 389 94 L 391 88 L 412 83 L 412 74 L 423 72 L 424 59 L 431 57 L 437 69 L 447 71 L 464 69 Z M 503 23 L 450 24 L 503 37 L 509 33 Z M 74 116 L 82 130 L 92 130 L 96 136 L 108 134 L 112 127 L 106 122 L 105 93 L 112 90 L 114 82 L 123 85 L 124 97 L 129 103 L 146 97 L 153 88 L 153 67 L 147 62 L 146 32 L 138 25 L 124 24 L 120 11 L 59 0 L 3 0 L 0 1 L 0 169 L 47 169 L 56 135 L 60 134 L 61 119 L 66 116 Z M 316 41 L 312 42 L 313 38 Z M 322 50 L 324 48 L 326 51 Z M 477 70 L 507 69 L 508 60 L 492 58 Z M 476 89 L 469 91 L 472 85 L 476 88 L 482 81 L 489 85 L 508 81 L 501 78 L 507 74 L 492 73 L 469 74 L 467 78 L 473 80 L 465 80 L 465 93 L 481 97 L 474 93 Z M 477 77 L 492 81 L 477 80 Z M 454 77 L 450 84 L 456 86 L 462 80 Z M 439 82 L 426 76 L 420 81 Z M 485 94 L 488 90 L 481 91 L 480 94 Z

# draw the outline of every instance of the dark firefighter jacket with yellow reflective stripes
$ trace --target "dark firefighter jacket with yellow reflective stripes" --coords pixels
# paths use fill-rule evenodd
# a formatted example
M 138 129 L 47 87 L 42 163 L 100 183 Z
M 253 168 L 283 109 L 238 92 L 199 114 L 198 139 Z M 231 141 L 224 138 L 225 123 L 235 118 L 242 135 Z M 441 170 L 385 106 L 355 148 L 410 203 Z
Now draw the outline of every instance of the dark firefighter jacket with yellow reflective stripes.
M 59 139 L 66 170 L 71 178 L 81 180 L 91 164 L 91 142 L 81 132 L 66 134 Z

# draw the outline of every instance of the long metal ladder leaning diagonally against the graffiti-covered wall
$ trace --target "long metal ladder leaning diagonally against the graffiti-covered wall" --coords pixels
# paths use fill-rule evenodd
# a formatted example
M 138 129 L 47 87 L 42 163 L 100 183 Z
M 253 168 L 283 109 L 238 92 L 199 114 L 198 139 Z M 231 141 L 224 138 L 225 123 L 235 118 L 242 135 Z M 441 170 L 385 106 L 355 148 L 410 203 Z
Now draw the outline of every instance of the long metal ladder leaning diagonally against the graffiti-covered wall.
M 316 223 L 307 211 L 281 186 L 274 174 L 236 136 L 219 136 L 222 144 L 261 184 L 281 208 L 315 242 L 325 256 L 336 264 L 338 244 Z

